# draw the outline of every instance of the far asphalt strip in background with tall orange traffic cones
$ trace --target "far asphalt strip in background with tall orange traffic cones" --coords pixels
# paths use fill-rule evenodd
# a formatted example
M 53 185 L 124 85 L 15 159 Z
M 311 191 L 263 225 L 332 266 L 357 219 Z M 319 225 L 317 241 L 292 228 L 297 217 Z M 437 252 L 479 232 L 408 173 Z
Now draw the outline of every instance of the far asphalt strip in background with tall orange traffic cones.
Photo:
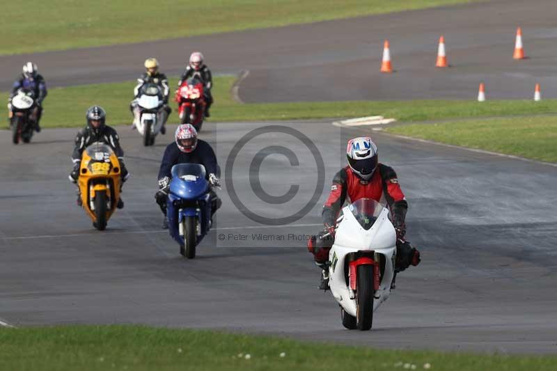
M 243 31 L 66 52 L 0 56 L 0 89 L 21 65 L 38 63 L 49 86 L 135 79 L 143 60 L 180 74 L 189 53 L 202 50 L 216 73 L 249 70 L 240 86 L 245 102 L 298 100 L 487 99 L 557 97 L 554 0 L 495 0 L 465 6 L 393 13 L 277 29 Z M 525 61 L 514 61 L 517 26 Z M 434 68 L 444 34 L 453 68 Z M 395 73 L 381 74 L 383 41 L 391 42 Z

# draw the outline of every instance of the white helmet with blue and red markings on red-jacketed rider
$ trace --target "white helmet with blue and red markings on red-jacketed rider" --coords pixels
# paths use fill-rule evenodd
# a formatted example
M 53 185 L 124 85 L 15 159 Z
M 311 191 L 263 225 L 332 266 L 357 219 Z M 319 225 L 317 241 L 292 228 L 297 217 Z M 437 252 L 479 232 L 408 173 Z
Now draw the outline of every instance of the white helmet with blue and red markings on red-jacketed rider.
M 358 177 L 370 180 L 377 168 L 377 145 L 369 136 L 350 139 L 346 148 L 348 165 Z

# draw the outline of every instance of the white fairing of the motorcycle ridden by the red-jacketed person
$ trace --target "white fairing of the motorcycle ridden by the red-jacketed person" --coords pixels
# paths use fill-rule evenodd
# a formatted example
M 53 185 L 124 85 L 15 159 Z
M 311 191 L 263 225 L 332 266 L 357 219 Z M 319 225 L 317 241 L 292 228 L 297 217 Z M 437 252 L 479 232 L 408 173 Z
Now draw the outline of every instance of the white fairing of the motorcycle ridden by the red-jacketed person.
M 373 201 L 375 202 L 375 201 Z M 380 205 L 377 203 L 377 205 Z M 350 288 L 350 272 L 346 271 L 347 255 L 358 251 L 374 251 L 376 267 L 380 269 L 379 288 L 375 290 L 373 311 L 391 294 L 396 256 L 396 232 L 389 220 L 389 210 L 382 207 L 377 220 L 365 230 L 356 220 L 348 205 L 343 208 L 343 219 L 338 224 L 335 242 L 329 251 L 329 287 L 333 297 L 346 313 L 356 316 L 356 299 Z

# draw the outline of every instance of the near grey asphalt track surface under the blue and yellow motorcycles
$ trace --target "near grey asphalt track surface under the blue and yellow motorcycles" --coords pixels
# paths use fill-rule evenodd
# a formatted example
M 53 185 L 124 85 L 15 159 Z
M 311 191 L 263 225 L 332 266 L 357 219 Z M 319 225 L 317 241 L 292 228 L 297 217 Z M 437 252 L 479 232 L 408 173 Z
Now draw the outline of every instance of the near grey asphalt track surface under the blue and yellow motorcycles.
M 377 133 L 381 159 L 398 170 L 409 199 L 408 236 L 421 246 L 423 263 L 400 274 L 373 331 L 360 333 L 343 329 L 331 295 L 315 288 L 319 271 L 303 240 L 258 241 L 251 234 L 319 230 L 320 205 L 343 163 L 345 139 L 364 131 L 329 123 L 286 126 L 319 148 L 326 165 L 319 202 L 290 226 L 265 226 L 247 219 L 225 187 L 216 228 L 195 260 L 181 258 L 178 245 L 159 230 L 153 194 L 160 137 L 154 148 L 143 148 L 138 134 L 119 129 L 132 178 L 125 209 L 97 232 L 66 179 L 75 130 L 45 130 L 31 145 L 17 146 L 1 132 L 0 317 L 16 326 L 141 323 L 377 347 L 556 351 L 556 167 Z M 256 127 L 207 125 L 202 138 L 224 165 L 233 145 Z M 317 184 L 314 154 L 288 135 L 258 136 L 234 164 L 238 198 L 270 218 L 301 209 Z M 292 166 L 274 154 L 262 162 L 260 182 L 268 194 L 299 185 L 278 207 L 249 187 L 248 164 L 267 145 L 284 145 L 299 159 Z M 234 240 L 242 234 L 246 240 Z

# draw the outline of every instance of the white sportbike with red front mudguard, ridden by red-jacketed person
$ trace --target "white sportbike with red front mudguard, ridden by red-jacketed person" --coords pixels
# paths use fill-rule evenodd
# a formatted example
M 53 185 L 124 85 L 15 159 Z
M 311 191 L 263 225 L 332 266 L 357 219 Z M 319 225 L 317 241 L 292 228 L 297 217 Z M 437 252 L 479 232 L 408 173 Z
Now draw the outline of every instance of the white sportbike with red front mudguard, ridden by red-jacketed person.
M 344 207 L 329 252 L 329 287 L 347 329 L 371 329 L 373 312 L 391 294 L 395 259 L 389 210 L 369 198 Z

